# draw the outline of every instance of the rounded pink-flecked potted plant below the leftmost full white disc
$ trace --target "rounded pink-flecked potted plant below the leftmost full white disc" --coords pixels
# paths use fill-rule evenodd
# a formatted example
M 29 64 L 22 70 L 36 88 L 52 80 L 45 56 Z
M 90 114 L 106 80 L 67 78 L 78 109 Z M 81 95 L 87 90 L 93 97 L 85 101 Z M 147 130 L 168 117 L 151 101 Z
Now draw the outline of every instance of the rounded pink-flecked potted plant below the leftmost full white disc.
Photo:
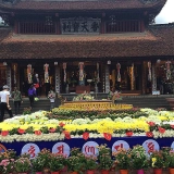
M 14 162 L 14 169 L 18 174 L 28 174 L 32 169 L 30 160 L 25 157 L 20 157 Z

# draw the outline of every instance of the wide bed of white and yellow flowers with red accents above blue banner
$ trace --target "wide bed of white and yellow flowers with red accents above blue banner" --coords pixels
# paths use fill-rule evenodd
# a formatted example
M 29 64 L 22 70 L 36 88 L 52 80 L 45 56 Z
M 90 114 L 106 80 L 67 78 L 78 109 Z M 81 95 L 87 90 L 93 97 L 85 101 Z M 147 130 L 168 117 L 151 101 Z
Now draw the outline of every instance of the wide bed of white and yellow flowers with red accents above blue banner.
M 111 140 L 126 136 L 174 137 L 174 113 L 151 109 L 109 112 L 58 109 L 58 112 L 39 111 L 0 123 L 1 142 L 71 138 Z

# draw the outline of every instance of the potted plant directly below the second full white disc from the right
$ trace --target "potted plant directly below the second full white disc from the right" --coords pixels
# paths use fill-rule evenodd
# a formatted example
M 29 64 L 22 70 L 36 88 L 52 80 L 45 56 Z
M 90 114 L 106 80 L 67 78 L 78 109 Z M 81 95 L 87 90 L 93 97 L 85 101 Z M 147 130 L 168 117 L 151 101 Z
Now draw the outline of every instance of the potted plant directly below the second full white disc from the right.
M 115 169 L 120 170 L 120 173 L 128 173 L 128 170 L 130 169 L 130 149 L 126 150 L 124 148 L 119 149 L 116 152 L 113 153 L 113 157 L 115 159 L 114 165 Z

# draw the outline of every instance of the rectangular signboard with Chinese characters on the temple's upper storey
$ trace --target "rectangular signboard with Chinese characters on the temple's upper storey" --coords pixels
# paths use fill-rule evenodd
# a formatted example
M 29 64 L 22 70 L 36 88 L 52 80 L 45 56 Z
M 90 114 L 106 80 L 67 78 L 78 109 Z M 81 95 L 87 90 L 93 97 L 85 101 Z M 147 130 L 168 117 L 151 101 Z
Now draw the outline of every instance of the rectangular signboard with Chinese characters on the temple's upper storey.
M 62 34 L 99 34 L 100 18 L 70 17 L 61 18 Z

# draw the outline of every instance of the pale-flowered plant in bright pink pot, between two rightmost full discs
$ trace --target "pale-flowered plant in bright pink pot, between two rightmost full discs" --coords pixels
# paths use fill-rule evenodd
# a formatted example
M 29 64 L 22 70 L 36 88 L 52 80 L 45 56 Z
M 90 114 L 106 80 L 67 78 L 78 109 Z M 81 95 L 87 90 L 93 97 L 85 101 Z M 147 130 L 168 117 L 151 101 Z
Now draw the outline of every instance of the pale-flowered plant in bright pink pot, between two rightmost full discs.
M 144 170 L 149 167 L 149 158 L 145 148 L 140 145 L 133 147 L 130 151 L 132 167 L 137 170 L 138 174 L 144 174 Z

